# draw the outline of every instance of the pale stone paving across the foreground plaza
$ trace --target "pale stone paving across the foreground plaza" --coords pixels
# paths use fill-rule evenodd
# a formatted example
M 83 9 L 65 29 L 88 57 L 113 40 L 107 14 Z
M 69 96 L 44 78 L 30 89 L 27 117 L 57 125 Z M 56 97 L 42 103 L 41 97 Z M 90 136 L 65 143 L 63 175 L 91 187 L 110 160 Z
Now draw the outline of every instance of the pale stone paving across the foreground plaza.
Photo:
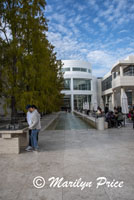
M 102 132 L 90 127 L 45 130 L 40 133 L 39 146 L 39 153 L 0 155 L 0 200 L 134 200 L 134 130 L 131 125 Z M 44 188 L 33 186 L 36 176 L 44 177 Z M 92 181 L 93 186 L 83 191 L 50 188 L 48 179 L 53 176 L 64 177 L 64 181 L 82 178 Z M 124 181 L 124 186 L 96 189 L 96 178 L 101 176 L 109 181 Z

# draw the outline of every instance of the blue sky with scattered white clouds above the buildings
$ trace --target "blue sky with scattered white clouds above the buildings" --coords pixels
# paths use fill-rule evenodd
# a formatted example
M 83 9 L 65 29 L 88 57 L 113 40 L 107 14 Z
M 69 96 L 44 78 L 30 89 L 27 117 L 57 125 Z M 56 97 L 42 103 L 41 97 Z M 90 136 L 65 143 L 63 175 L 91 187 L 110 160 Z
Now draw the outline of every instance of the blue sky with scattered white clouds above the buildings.
M 134 0 L 46 0 L 48 40 L 61 60 L 84 60 L 105 75 L 134 55 Z

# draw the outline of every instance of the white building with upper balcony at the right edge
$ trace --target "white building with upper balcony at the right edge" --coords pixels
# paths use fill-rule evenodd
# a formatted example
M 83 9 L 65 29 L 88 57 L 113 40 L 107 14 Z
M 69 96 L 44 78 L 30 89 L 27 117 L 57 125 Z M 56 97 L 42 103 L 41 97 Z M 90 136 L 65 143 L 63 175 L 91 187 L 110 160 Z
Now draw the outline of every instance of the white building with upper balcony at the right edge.
M 128 105 L 134 105 L 134 56 L 119 60 L 111 71 L 102 78 L 104 104 L 121 106 L 122 95 L 126 93 Z

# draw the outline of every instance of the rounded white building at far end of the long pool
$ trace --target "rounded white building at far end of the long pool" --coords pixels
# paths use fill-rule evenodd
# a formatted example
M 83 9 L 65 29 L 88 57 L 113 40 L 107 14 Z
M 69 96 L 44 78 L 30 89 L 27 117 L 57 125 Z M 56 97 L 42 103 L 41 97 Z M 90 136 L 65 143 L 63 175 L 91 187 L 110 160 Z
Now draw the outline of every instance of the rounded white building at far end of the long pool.
M 63 109 L 73 111 L 90 109 L 93 93 L 96 93 L 95 78 L 91 64 L 79 60 L 62 60 L 64 72 Z

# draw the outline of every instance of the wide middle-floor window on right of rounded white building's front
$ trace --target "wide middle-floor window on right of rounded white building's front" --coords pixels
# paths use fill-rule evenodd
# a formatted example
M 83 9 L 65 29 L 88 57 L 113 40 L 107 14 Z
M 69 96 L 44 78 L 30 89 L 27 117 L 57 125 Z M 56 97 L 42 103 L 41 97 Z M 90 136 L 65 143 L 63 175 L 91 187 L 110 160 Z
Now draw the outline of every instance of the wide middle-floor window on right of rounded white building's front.
M 74 90 L 91 90 L 91 80 L 89 79 L 73 79 Z

